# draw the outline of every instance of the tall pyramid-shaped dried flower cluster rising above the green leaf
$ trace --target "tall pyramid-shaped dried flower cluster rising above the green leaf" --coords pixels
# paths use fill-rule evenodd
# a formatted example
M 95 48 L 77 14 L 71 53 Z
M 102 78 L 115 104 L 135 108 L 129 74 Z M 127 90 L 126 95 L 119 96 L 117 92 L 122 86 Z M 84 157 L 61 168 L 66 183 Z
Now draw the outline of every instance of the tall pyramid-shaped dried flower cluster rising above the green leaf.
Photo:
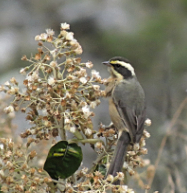
M 60 132 L 64 140 L 66 131 L 70 131 L 83 139 L 94 133 L 91 122 L 94 113 L 90 109 L 100 104 L 99 97 L 104 91 L 96 83 L 103 81 L 95 70 L 88 76 L 86 68 L 92 68 L 93 64 L 81 63 L 81 58 L 76 57 L 82 48 L 68 29 L 68 24 L 61 24 L 58 38 L 50 29 L 36 36 L 38 52 L 30 59 L 22 58 L 31 63 L 20 70 L 26 74 L 24 92 L 15 78 L 1 86 L 1 91 L 14 96 L 5 113 L 21 110 L 27 114 L 31 127 L 21 134 L 23 138 L 49 139 Z

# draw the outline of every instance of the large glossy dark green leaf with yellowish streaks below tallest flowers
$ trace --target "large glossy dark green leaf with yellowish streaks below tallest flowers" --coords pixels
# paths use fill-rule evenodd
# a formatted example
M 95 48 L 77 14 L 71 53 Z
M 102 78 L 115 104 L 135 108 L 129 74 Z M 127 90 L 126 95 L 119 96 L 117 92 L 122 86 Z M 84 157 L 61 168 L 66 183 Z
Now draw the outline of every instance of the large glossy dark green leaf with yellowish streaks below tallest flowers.
M 44 170 L 53 179 L 66 179 L 75 173 L 81 161 L 82 150 L 76 143 L 68 144 L 67 141 L 60 141 L 49 150 Z

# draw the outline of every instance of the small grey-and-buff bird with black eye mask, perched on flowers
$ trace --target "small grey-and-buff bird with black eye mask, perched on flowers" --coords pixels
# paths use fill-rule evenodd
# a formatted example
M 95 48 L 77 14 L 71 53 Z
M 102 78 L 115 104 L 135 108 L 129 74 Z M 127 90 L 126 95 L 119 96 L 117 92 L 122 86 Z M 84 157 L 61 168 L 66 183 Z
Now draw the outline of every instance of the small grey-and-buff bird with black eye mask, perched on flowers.
M 121 131 L 108 174 L 122 171 L 129 144 L 138 144 L 146 118 L 145 94 L 138 82 L 134 68 L 123 57 L 113 57 L 103 62 L 109 67 L 106 96 L 109 97 L 109 113 L 114 127 Z M 116 181 L 114 184 L 119 184 Z

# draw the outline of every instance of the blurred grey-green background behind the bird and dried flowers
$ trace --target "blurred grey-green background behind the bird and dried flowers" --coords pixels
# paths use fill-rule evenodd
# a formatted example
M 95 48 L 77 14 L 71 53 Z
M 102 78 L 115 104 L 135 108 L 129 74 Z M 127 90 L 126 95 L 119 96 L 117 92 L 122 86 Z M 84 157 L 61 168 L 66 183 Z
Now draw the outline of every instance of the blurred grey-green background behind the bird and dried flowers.
M 147 158 L 155 163 L 168 124 L 186 97 L 186 0 L 1 0 L 0 18 L 1 84 L 12 76 L 21 81 L 19 70 L 27 63 L 20 58 L 36 52 L 34 37 L 47 28 L 57 35 L 64 22 L 83 47 L 82 61 L 92 61 L 103 78 L 109 74 L 102 61 L 128 58 L 146 93 L 147 116 L 152 120 Z M 95 113 L 95 127 L 110 123 L 107 100 Z M 150 192 L 187 191 L 186 114 L 184 110 L 178 120 L 182 123 L 175 124 L 167 138 Z M 18 115 L 15 120 L 18 133 L 26 128 L 22 119 Z M 94 159 L 94 152 L 90 154 L 86 166 Z M 145 192 L 136 183 L 129 186 Z

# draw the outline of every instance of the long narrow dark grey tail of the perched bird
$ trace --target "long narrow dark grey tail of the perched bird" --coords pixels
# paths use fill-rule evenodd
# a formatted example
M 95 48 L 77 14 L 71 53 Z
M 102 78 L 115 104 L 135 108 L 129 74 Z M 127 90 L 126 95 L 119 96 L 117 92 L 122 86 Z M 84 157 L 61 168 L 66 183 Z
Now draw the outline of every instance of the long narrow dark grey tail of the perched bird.
M 117 175 L 117 172 L 122 171 L 124 156 L 126 155 L 127 146 L 130 143 L 129 133 L 123 131 L 120 138 L 118 139 L 116 149 L 114 151 L 114 157 L 110 164 L 107 175 L 111 174 L 113 176 Z M 114 182 L 114 184 L 119 184 L 119 181 Z

